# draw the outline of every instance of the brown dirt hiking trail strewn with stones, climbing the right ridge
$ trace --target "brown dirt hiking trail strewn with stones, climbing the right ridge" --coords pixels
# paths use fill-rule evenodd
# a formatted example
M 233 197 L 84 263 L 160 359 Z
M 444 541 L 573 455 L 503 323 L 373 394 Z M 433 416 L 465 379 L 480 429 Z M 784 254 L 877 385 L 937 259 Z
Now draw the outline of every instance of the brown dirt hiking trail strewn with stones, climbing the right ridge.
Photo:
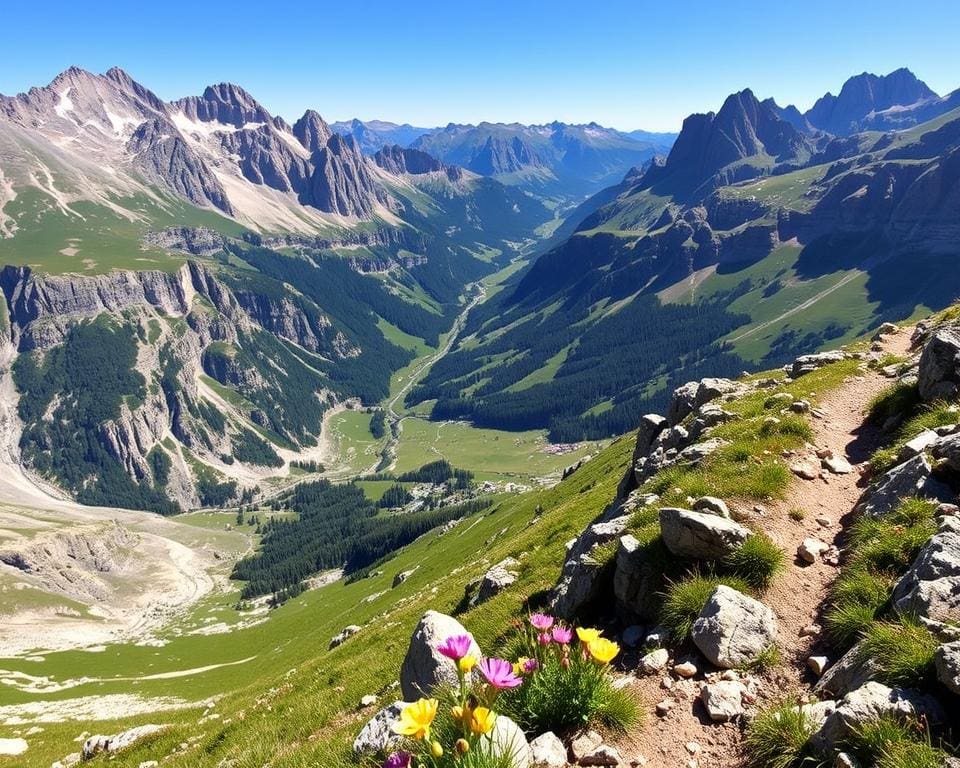
M 883 351 L 904 354 L 909 339 L 910 331 L 901 329 L 884 338 Z M 819 618 L 838 568 L 829 556 L 808 563 L 797 553 L 807 539 L 823 542 L 824 549 L 842 544 L 852 509 L 864 488 L 859 465 L 870 457 L 880 439 L 878 430 L 864 422 L 864 414 L 870 400 L 889 384 L 890 380 L 879 373 L 865 372 L 826 395 L 810 417 L 812 445 L 817 452 L 844 458 L 852 471 L 835 474 L 824 468 L 814 479 L 795 477 L 786 497 L 769 504 L 730 502 L 735 517 L 749 520 L 787 554 L 786 570 L 762 598 L 777 617 L 780 661 L 774 669 L 757 675 L 759 684 L 748 693 L 761 704 L 789 696 L 803 698 L 816 682 L 807 659 L 824 653 L 817 636 Z M 792 519 L 792 510 L 802 510 L 803 519 Z M 643 675 L 637 670 L 641 676 L 634 689 L 647 716 L 638 730 L 616 741 L 616 747 L 628 765 L 637 760 L 638 765 L 650 768 L 742 766 L 740 726 L 711 720 L 700 699 L 703 674 L 685 679 L 669 673 L 671 666 L 684 661 L 703 666 L 703 659 L 691 654 L 690 658 L 671 658 L 670 665 L 659 674 Z M 725 674 L 732 677 L 734 673 Z M 658 710 L 665 702 L 669 702 L 669 711 L 660 715 Z M 641 757 L 646 762 L 640 762 Z

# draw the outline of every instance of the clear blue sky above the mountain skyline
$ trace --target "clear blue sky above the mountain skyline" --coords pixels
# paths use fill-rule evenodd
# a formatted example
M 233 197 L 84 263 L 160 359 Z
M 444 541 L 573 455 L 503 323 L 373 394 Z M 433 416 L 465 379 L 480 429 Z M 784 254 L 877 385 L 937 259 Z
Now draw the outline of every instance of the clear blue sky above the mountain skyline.
M 165 99 L 235 82 L 288 119 L 676 130 L 744 87 L 801 109 L 865 70 L 960 87 L 957 0 L 7 0 L 0 18 L 0 93 L 118 65 Z

